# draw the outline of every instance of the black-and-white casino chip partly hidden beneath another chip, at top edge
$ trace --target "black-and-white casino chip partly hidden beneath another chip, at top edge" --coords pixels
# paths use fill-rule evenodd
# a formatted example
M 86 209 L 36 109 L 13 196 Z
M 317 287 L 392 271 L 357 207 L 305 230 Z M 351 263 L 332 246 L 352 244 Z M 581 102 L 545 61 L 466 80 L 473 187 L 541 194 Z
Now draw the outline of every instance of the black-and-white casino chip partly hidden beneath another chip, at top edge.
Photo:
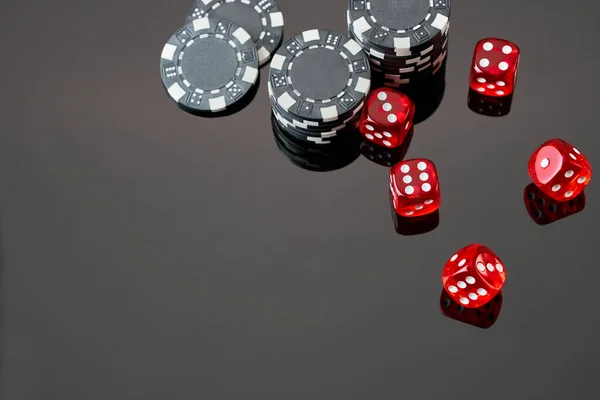
M 273 0 L 195 0 L 186 23 L 205 17 L 244 28 L 256 45 L 260 65 L 269 61 L 283 38 L 283 14 Z

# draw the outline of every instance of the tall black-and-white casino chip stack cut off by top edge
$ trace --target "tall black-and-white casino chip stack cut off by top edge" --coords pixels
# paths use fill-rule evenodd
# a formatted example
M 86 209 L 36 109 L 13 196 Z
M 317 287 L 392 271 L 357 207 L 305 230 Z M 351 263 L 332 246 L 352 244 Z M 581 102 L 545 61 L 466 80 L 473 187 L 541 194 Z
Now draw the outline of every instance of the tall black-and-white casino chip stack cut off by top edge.
M 438 73 L 447 54 L 450 0 L 349 0 L 348 33 L 386 86 Z

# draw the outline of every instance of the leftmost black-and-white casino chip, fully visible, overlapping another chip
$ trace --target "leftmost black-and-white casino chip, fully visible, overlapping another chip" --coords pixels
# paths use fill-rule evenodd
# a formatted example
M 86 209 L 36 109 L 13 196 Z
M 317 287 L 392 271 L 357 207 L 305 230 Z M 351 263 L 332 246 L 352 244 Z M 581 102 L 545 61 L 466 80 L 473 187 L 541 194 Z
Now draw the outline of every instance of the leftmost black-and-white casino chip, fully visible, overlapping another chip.
M 221 113 L 255 89 L 258 54 L 243 28 L 200 18 L 171 36 L 162 50 L 160 71 L 180 108 L 201 115 Z

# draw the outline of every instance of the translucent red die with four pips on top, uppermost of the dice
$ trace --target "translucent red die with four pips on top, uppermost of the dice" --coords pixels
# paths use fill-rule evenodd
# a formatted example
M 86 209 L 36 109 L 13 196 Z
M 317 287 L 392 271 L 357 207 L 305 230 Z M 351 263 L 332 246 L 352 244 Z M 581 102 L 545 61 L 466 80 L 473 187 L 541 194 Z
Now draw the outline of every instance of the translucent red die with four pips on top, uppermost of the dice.
M 469 77 L 471 89 L 493 97 L 511 94 L 517 82 L 520 53 L 508 40 L 486 38 L 477 42 Z

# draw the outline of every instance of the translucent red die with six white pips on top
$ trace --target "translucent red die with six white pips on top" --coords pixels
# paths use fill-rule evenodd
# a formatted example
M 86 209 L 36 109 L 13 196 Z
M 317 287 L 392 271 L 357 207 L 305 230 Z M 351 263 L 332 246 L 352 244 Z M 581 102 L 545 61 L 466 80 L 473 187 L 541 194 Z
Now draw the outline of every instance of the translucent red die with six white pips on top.
M 390 192 L 396 213 L 419 217 L 440 208 L 440 183 L 435 165 L 425 158 L 402 161 L 390 169 Z

